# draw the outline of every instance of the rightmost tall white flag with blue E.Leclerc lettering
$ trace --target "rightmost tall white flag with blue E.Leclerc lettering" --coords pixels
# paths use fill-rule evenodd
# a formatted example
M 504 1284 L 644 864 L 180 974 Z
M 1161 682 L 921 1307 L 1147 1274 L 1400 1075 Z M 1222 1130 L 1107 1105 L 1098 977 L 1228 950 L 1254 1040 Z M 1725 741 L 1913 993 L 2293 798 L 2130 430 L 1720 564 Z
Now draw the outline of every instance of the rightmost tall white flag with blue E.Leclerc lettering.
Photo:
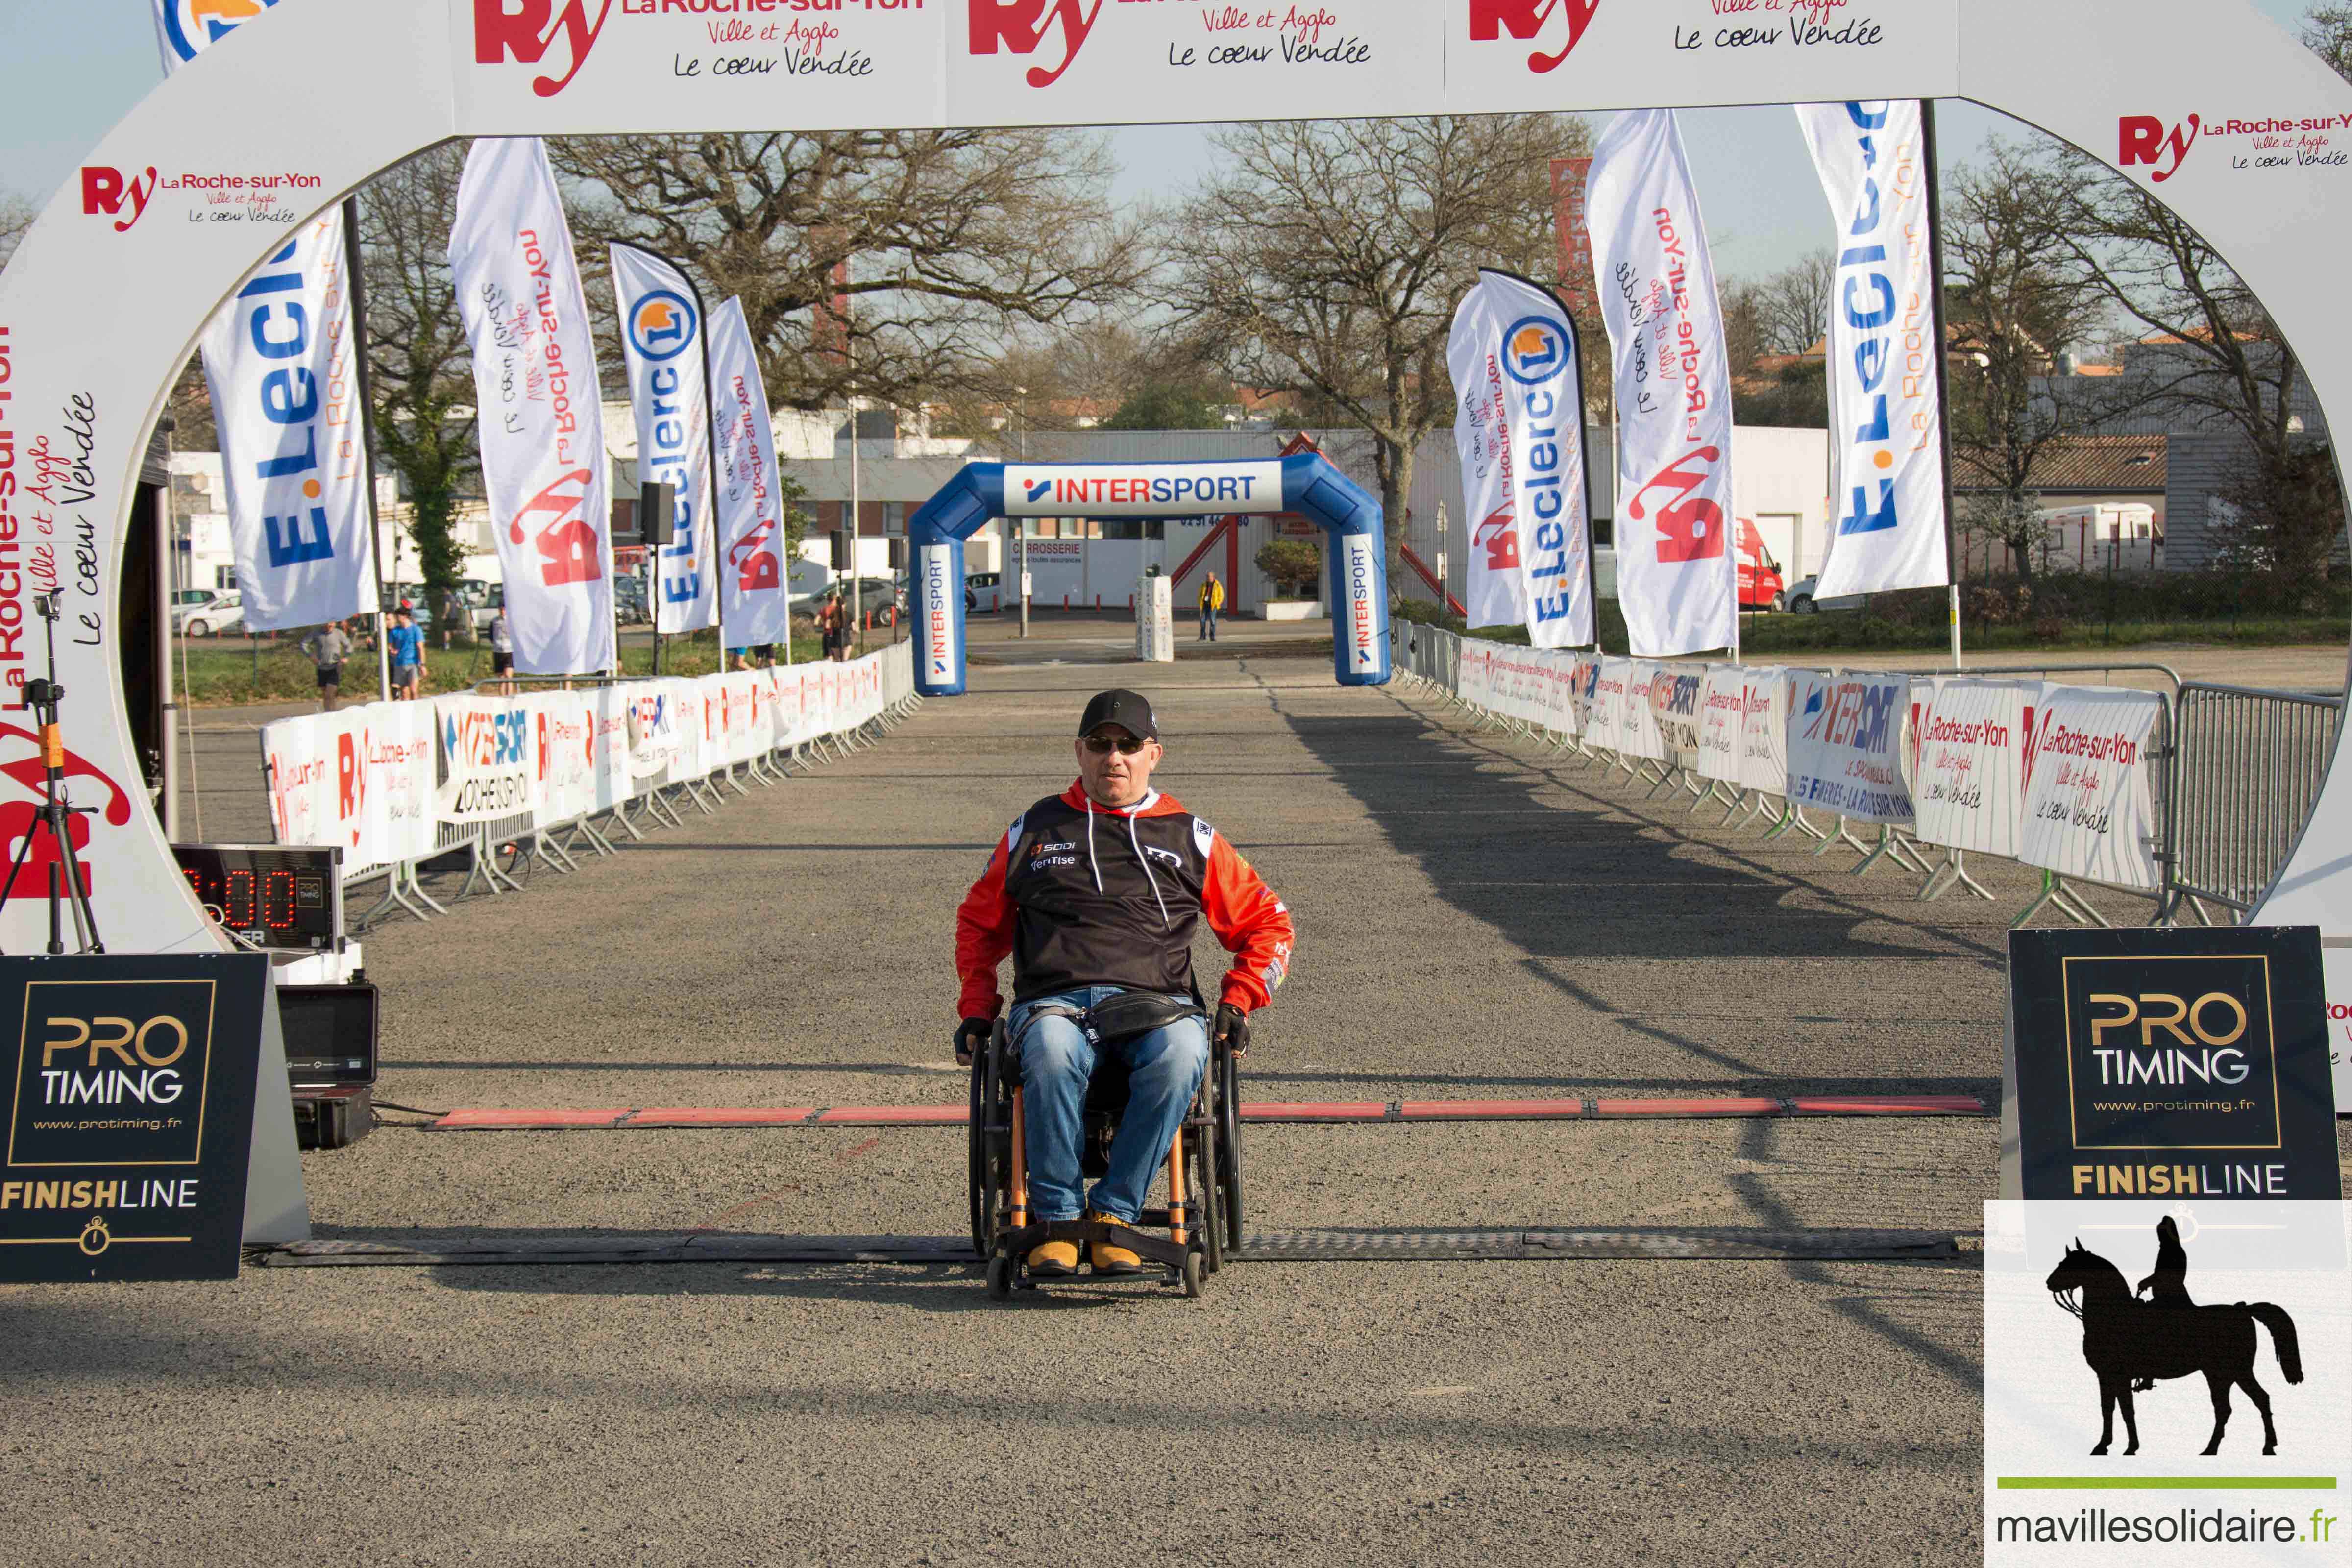
M 1816 592 L 1952 581 L 1943 520 L 1943 355 L 1919 103 L 1797 103 L 1837 221 L 1830 440 L 1837 489 Z M 1905 348 L 1912 343 L 1912 348 Z

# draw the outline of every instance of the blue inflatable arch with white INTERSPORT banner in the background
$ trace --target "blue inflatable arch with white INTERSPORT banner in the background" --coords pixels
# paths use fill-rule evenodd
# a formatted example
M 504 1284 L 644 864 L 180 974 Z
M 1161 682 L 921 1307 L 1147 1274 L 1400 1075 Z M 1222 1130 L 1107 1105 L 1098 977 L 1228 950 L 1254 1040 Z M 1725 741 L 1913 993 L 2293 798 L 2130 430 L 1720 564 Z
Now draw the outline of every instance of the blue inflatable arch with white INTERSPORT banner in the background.
M 1296 512 L 1329 536 L 1324 604 L 1343 686 L 1388 684 L 1381 503 L 1312 451 L 1216 463 L 969 463 L 908 522 L 915 689 L 964 693 L 964 541 L 995 517 L 1263 517 Z

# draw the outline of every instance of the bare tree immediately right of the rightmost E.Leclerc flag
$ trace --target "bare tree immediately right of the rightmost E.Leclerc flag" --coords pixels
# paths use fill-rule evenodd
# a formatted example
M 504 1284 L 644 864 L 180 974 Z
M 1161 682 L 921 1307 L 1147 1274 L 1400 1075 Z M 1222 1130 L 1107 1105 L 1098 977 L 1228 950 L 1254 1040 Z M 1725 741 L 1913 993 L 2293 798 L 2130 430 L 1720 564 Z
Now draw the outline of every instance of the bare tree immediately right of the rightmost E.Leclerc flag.
M 1955 480 L 1978 494 L 1959 527 L 2034 571 L 2046 531 L 2034 468 L 2067 437 L 2110 414 L 2105 402 L 2051 390 L 2058 357 L 2086 343 L 2103 317 L 2100 289 L 2053 266 L 2063 254 L 2060 200 L 2049 172 L 1999 139 L 1987 160 L 1957 172 L 1943 200 L 1947 400 Z

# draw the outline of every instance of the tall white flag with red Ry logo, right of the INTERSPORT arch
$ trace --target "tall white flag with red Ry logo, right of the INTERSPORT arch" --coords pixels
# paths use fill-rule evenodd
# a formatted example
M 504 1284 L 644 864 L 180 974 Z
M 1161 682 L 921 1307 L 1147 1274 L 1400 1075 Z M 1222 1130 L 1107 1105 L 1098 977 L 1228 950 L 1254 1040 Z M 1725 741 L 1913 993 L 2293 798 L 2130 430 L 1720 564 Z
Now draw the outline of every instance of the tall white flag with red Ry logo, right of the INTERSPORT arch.
M 1738 637 L 1731 367 L 1715 263 L 1675 113 L 1621 113 L 1585 193 L 1592 275 L 1616 350 L 1618 604 L 1637 658 Z

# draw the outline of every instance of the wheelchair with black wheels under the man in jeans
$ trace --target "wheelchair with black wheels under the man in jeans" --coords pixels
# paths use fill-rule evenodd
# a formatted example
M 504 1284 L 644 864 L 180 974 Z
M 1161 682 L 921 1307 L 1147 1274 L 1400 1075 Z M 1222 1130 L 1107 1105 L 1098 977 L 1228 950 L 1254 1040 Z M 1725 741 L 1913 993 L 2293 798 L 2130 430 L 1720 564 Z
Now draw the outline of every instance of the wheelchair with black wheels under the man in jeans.
M 1127 1107 L 1127 1067 L 1105 1058 L 1087 1084 L 1080 1171 L 1098 1180 L 1108 1171 L 1110 1138 Z M 1035 1291 L 1030 1248 L 1073 1241 L 1080 1267 L 1091 1269 L 1091 1241 L 1110 1241 L 1160 1262 L 1185 1295 L 1200 1295 L 1228 1253 L 1242 1248 L 1242 1100 L 1240 1072 L 1223 1041 L 1209 1044 L 1209 1067 L 1200 1074 L 1167 1157 L 1167 1208 L 1145 1208 L 1138 1225 L 1167 1227 L 1164 1237 L 1105 1220 L 1033 1220 L 1028 1206 L 1028 1157 L 1021 1124 L 1021 1058 L 1000 1018 L 988 1048 L 971 1058 L 971 1251 L 988 1260 L 988 1295 L 1009 1300 L 1014 1288 Z M 1075 1279 L 1075 1276 L 1073 1276 Z

